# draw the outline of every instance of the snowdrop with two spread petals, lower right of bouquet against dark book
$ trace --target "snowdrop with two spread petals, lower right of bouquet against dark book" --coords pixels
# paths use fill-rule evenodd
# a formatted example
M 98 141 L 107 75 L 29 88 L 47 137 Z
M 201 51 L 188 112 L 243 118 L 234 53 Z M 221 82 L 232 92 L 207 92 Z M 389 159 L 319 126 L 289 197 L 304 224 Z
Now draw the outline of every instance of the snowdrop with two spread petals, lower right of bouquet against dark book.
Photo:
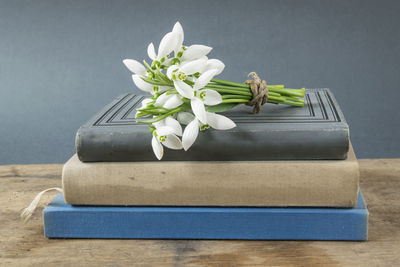
M 185 114 L 185 116 L 188 115 Z M 206 129 L 208 127 L 211 127 L 217 130 L 229 130 L 236 126 L 236 124 L 231 119 L 219 114 L 206 112 L 206 118 L 207 118 L 207 124 L 202 124 L 197 118 L 194 118 L 186 126 L 185 131 L 183 132 L 182 135 L 182 146 L 185 151 L 188 150 L 193 145 L 194 141 L 196 141 L 200 128 Z

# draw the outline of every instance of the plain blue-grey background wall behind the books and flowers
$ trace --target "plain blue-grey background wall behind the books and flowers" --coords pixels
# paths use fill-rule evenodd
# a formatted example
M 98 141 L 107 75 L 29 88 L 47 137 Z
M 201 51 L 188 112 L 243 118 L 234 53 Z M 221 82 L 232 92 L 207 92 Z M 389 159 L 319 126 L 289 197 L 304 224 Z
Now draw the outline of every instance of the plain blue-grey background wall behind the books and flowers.
M 137 92 L 142 59 L 176 20 L 214 48 L 221 78 L 329 87 L 360 158 L 400 157 L 399 1 L 0 1 L 0 164 L 62 163 L 78 127 Z

